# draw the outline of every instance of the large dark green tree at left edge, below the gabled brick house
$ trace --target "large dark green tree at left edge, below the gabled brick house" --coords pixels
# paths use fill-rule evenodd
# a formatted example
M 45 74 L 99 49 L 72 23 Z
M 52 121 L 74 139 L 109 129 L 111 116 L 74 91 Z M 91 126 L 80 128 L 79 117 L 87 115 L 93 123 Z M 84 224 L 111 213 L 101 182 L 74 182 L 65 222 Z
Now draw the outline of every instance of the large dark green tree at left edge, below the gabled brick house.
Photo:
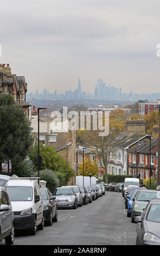
M 28 155 L 32 143 L 30 123 L 25 118 L 23 109 L 15 103 L 11 95 L 0 94 L 1 163 L 10 159 L 12 170 L 16 174 L 17 166 Z

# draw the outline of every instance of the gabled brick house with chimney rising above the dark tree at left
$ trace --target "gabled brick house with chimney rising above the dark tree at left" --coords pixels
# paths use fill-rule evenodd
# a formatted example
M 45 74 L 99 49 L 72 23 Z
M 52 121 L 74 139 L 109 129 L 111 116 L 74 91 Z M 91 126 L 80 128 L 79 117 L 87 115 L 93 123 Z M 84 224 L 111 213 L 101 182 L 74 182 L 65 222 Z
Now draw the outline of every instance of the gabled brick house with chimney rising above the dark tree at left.
M 28 120 L 31 117 L 31 105 L 26 102 L 27 82 L 24 76 L 11 73 L 9 64 L 0 64 L 0 90 L 1 93 L 11 94 L 17 105 L 20 105 Z

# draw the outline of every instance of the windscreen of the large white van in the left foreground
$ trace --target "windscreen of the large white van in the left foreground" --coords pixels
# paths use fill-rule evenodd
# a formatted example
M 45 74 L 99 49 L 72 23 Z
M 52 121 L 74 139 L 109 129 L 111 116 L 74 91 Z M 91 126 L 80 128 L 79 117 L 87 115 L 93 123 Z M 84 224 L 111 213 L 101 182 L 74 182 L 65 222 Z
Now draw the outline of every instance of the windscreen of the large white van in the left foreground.
M 28 186 L 7 186 L 7 192 L 11 202 L 33 200 L 33 188 Z

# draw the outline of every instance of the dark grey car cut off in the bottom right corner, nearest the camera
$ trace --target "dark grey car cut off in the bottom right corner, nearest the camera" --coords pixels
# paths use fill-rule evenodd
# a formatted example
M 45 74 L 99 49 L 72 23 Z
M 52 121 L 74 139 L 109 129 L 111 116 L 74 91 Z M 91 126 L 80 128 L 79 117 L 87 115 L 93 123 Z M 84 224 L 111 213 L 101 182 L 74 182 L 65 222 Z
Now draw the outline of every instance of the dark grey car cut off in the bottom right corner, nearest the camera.
M 160 200 L 151 199 L 137 223 L 136 245 L 160 245 Z

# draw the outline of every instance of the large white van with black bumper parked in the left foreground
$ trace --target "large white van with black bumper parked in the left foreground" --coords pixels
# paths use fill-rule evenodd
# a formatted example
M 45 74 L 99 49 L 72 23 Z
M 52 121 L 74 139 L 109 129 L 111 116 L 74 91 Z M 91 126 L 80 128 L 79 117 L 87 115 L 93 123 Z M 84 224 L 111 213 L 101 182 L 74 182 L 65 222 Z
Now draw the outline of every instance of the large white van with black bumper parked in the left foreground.
M 43 229 L 43 202 L 37 181 L 10 179 L 6 189 L 14 212 L 15 230 L 30 230 L 35 235 L 36 229 Z

